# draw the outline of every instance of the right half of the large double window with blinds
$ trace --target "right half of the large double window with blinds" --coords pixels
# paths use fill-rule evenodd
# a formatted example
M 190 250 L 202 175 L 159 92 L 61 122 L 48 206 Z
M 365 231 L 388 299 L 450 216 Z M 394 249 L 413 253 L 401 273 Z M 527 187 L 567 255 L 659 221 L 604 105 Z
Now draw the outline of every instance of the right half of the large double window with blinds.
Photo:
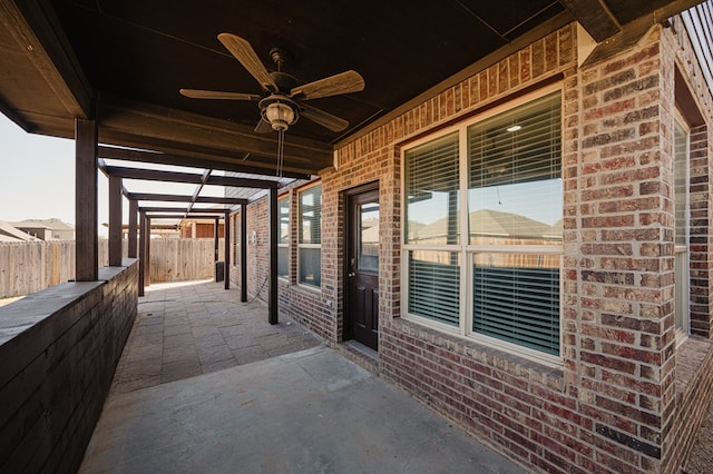
M 528 248 L 561 243 L 560 109 L 556 92 L 468 128 L 472 330 L 553 355 L 560 257 Z

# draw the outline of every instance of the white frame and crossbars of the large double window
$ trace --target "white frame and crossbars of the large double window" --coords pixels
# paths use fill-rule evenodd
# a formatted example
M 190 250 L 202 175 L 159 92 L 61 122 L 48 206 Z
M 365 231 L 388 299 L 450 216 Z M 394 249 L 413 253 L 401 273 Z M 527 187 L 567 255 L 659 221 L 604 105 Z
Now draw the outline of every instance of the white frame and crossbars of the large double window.
M 406 170 L 406 154 L 410 149 L 419 147 L 423 144 L 428 144 L 430 141 L 437 140 L 441 137 L 445 137 L 453 131 L 459 132 L 459 189 L 461 195 L 463 190 L 468 190 L 468 166 L 469 160 L 467 159 L 467 140 L 468 135 L 467 130 L 473 124 L 488 119 L 490 117 L 497 116 L 499 113 L 506 112 L 512 108 L 527 105 L 536 99 L 545 97 L 549 93 L 560 91 L 563 92 L 563 83 L 556 82 L 548 87 L 541 88 L 537 91 L 525 95 L 518 99 L 514 99 L 507 103 L 504 103 L 498 107 L 494 107 L 490 110 L 485 111 L 476 117 L 469 118 L 460 124 L 453 125 L 451 127 L 447 127 L 438 130 L 438 132 L 423 137 L 419 140 L 414 140 L 413 142 L 408 144 L 401 149 L 401 229 L 404 231 L 404 236 L 402 239 L 402 250 L 401 250 L 401 317 L 407 320 L 412 320 L 422 326 L 430 327 L 437 329 L 439 332 L 448 333 L 458 337 L 463 337 L 471 340 L 477 340 L 479 344 L 485 346 L 505 349 L 512 354 L 522 356 L 525 358 L 535 361 L 543 365 L 549 367 L 561 367 L 564 361 L 564 347 L 563 347 L 563 305 L 564 298 L 563 287 L 564 287 L 564 278 L 561 275 L 563 271 L 563 260 L 561 256 L 564 255 L 564 243 L 563 245 L 522 245 L 522 246 L 477 246 L 470 245 L 470 236 L 469 236 L 469 203 L 468 196 L 459 196 L 459 210 L 458 210 L 458 224 L 459 224 L 459 240 L 458 245 L 410 245 L 408 244 L 408 236 L 406 235 L 408 229 L 408 196 L 406 192 L 407 189 L 407 170 Z M 563 97 L 563 107 L 564 107 L 564 93 Z M 564 118 L 563 118 L 564 119 Z M 560 130 L 563 129 L 560 125 Z M 564 140 L 563 140 L 564 141 Z M 564 168 L 564 166 L 563 166 Z M 563 189 L 564 192 L 564 189 Z M 563 217 L 564 217 L 564 207 L 563 207 Z M 463 244 L 463 241 L 466 244 Z M 459 261 L 460 261 L 460 314 L 459 314 L 459 325 L 458 327 L 439 323 L 437 320 L 426 318 L 419 315 L 410 314 L 408 312 L 409 308 L 409 251 L 411 250 L 436 250 L 436 251 L 450 251 L 458 253 Z M 469 267 L 472 265 L 472 255 L 476 253 L 507 253 L 507 254 L 528 254 L 533 253 L 538 254 L 547 254 L 547 255 L 559 255 L 559 355 L 546 354 L 540 350 L 536 350 L 529 347 L 525 347 L 515 343 L 510 343 L 507 340 L 501 340 L 495 337 L 490 337 L 480 333 L 475 333 L 472 330 L 472 320 L 473 320 L 473 312 L 472 312 L 472 279 L 473 274 Z

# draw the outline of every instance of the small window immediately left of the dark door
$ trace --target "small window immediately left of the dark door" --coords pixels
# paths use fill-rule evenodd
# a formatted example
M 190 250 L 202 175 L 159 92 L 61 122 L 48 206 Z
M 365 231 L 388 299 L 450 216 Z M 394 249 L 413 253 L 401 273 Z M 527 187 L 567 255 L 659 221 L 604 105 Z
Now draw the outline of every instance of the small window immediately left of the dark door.
M 297 282 L 320 287 L 322 244 L 322 185 L 299 191 Z

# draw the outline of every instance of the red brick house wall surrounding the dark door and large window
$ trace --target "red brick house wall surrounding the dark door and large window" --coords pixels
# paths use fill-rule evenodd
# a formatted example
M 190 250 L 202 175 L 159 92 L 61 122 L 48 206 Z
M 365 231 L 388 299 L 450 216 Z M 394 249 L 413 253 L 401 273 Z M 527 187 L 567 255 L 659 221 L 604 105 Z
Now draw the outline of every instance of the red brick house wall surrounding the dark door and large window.
M 675 41 L 681 36 L 654 27 L 629 50 L 579 67 L 572 24 L 342 146 L 336 168 L 321 175 L 321 292 L 291 277 L 280 286 L 281 310 L 330 340 L 343 338 L 344 191 L 377 181 L 384 377 L 541 471 L 675 472 L 686 454 L 680 440 L 694 433 L 713 385 L 705 378 L 693 386 L 676 371 L 674 61 L 690 45 Z M 401 318 L 400 147 L 556 81 L 564 112 L 563 362 L 553 368 Z M 693 137 L 693 326 L 710 337 L 712 154 L 704 129 Z M 266 231 L 266 203 L 250 209 L 248 228 Z M 263 251 L 248 261 L 256 274 L 266 268 Z M 688 372 L 705 373 L 711 361 L 702 357 Z

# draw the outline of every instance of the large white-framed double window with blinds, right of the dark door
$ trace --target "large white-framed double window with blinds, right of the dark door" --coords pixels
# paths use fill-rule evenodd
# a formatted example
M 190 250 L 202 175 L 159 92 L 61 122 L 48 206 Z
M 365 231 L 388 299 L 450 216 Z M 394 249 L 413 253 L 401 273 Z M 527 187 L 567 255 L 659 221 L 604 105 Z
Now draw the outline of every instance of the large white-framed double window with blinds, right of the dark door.
M 556 90 L 404 150 L 407 316 L 559 355 L 560 137 Z

